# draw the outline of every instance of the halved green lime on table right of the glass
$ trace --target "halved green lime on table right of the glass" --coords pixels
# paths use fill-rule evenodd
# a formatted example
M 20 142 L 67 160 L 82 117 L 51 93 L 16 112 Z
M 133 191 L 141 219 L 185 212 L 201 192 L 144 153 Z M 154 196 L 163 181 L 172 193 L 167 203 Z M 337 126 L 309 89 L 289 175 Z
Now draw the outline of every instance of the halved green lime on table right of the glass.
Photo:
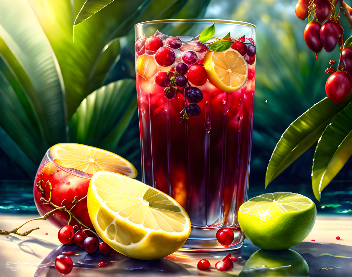
M 246 238 L 267 250 L 283 250 L 302 242 L 312 230 L 315 216 L 314 202 L 291 192 L 253 197 L 238 211 Z

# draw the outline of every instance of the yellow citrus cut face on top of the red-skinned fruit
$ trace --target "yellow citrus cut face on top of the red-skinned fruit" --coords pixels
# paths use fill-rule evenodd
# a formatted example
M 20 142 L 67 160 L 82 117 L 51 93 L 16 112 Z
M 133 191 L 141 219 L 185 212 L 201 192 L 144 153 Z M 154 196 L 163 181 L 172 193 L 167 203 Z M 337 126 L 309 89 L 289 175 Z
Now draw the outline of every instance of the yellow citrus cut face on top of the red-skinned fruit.
M 49 149 L 50 159 L 64 168 L 74 168 L 88 174 L 112 171 L 136 177 L 136 168 L 112 152 L 78 143 L 59 143 Z

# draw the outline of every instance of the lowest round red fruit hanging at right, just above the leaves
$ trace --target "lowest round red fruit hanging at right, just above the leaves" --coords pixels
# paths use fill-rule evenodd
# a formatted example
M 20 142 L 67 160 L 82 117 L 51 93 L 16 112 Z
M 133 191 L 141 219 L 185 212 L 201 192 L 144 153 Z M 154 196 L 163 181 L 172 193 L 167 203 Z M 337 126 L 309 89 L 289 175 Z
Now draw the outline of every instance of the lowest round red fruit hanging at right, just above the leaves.
M 350 75 L 345 71 L 337 71 L 326 80 L 325 92 L 331 101 L 338 104 L 350 93 L 352 81 Z

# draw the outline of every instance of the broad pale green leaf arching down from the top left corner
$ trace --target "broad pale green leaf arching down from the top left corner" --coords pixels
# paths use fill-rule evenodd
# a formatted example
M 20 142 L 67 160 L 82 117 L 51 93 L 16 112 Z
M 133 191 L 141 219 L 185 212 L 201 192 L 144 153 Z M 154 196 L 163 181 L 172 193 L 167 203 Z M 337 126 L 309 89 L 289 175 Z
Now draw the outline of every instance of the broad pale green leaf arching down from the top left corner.
M 20 20 L 14 24 L 14 18 Z M 0 37 L 3 60 L 24 89 L 22 99 L 26 98 L 27 107 L 34 109 L 33 116 L 40 121 L 46 141 L 42 147 L 64 139 L 67 121 L 62 76 L 50 43 L 27 1 L 5 1 L 1 4 Z M 39 129 L 33 124 L 27 126 L 32 127 Z M 7 128 L 5 131 L 9 134 Z M 12 139 L 20 143 L 24 135 Z M 41 148 L 37 151 L 40 153 Z

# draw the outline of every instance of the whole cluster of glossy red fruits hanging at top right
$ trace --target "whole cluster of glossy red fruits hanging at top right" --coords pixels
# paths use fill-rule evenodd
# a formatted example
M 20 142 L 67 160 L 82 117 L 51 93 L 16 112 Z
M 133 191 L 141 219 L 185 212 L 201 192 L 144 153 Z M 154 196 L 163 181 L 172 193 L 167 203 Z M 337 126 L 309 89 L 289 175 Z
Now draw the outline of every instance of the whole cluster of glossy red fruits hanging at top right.
M 326 72 L 331 75 L 325 84 L 327 96 L 336 104 L 344 100 L 352 88 L 352 49 L 343 48 L 344 29 L 339 25 L 340 13 L 335 16 L 337 3 L 329 0 L 298 0 L 295 6 L 298 18 L 305 20 L 313 15 L 313 20 L 304 29 L 304 41 L 310 50 L 318 55 L 322 48 L 329 53 L 337 43 L 340 45 L 342 53 L 338 71 L 328 68 Z M 324 23 L 321 25 L 321 22 Z

